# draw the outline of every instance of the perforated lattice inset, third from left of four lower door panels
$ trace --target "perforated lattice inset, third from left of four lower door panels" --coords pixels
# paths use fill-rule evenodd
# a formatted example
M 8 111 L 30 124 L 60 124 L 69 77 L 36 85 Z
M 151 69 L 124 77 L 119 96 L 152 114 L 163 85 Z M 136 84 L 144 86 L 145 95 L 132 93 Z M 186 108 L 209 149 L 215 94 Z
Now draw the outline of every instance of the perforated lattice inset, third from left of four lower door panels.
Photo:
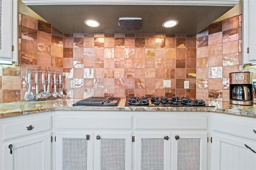
M 164 138 L 141 139 L 141 169 L 164 170 Z

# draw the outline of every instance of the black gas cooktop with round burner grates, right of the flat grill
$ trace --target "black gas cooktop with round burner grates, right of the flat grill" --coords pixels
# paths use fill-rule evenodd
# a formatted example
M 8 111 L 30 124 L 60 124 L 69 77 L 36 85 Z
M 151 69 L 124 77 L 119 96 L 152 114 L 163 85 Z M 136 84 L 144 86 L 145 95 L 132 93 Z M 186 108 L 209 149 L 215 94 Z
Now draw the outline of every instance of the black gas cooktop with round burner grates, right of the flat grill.
M 131 97 L 126 99 L 125 106 L 162 106 L 162 107 L 214 107 L 205 104 L 204 100 L 190 99 L 189 97 Z

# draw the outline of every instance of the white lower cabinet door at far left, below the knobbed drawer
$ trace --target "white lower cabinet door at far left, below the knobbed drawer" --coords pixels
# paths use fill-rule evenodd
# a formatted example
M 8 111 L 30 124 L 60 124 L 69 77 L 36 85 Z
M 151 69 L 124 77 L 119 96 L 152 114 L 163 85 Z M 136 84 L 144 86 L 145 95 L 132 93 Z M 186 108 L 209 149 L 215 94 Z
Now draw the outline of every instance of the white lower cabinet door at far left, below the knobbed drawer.
M 5 142 L 2 170 L 50 170 L 51 132 Z

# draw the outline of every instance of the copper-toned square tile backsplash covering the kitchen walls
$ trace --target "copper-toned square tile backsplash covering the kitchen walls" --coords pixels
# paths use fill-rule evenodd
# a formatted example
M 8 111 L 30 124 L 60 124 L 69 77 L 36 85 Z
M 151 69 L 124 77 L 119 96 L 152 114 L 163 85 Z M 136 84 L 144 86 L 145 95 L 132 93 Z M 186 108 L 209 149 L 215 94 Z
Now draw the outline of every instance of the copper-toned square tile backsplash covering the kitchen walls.
M 197 35 L 62 34 L 19 14 L 18 35 L 19 65 L 0 65 L 0 103 L 24 101 L 27 68 L 63 70 L 66 97 L 75 99 L 157 95 L 214 101 L 229 101 L 228 73 L 255 70 L 242 68 L 242 16 Z M 163 88 L 165 79 L 171 88 Z

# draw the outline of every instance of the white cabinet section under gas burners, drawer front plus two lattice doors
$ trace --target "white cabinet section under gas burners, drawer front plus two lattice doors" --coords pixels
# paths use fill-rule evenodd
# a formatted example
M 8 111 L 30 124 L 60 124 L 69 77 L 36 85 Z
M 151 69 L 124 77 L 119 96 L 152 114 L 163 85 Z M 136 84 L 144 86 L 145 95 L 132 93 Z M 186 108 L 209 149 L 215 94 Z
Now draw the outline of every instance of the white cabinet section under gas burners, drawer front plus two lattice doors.
M 207 169 L 207 113 L 134 114 L 136 170 Z

